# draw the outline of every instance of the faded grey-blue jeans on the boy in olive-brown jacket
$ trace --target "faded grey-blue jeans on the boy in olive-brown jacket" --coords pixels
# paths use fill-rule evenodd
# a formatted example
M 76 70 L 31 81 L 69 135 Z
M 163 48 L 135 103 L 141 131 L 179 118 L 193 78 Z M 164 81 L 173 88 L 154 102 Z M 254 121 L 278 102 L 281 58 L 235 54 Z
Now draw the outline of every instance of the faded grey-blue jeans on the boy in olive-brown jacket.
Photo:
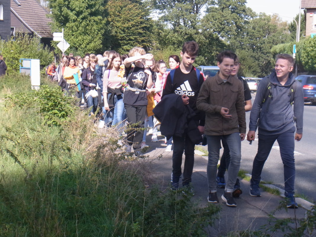
M 216 192 L 217 163 L 219 160 L 222 137 L 226 139 L 230 150 L 230 164 L 228 167 L 228 179 L 226 181 L 225 191 L 232 192 L 234 190 L 241 160 L 241 141 L 239 132 L 222 136 L 206 135 L 209 151 L 209 160 L 206 169 L 208 186 L 209 191 Z

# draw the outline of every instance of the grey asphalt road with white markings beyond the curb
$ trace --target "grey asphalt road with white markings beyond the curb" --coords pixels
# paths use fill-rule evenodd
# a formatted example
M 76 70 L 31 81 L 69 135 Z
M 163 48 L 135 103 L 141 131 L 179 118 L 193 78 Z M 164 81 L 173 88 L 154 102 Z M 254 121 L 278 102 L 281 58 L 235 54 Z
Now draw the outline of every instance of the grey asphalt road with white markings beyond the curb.
M 255 94 L 252 93 L 252 101 Z M 250 112 L 246 112 L 247 132 Z M 316 201 L 316 106 L 304 106 L 303 137 L 300 142 L 295 141 L 295 192 L 304 195 L 310 201 Z M 257 137 L 257 133 L 256 133 Z M 241 169 L 251 174 L 252 161 L 257 153 L 258 140 L 252 145 L 248 141 L 242 142 Z M 261 178 L 271 181 L 274 185 L 284 189 L 283 163 L 278 143 L 274 143 L 268 160 L 265 162 Z

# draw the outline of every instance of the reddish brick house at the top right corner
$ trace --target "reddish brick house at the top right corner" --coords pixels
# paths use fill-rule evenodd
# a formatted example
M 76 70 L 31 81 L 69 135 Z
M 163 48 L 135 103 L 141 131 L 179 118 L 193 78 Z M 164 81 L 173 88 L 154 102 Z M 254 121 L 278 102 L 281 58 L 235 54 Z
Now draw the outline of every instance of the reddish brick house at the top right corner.
M 316 34 L 316 0 L 302 0 L 301 9 L 305 9 L 306 36 Z

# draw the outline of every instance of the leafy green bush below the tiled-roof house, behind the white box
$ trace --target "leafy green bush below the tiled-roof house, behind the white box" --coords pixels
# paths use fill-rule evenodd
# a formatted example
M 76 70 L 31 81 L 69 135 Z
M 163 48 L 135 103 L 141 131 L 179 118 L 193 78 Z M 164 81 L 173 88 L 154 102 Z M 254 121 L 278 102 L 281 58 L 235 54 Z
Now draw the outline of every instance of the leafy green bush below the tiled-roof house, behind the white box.
M 7 64 L 8 74 L 19 70 L 20 58 L 40 59 L 41 67 L 51 64 L 54 59 L 54 53 L 40 44 L 40 39 L 22 33 L 15 35 L 15 41 L 0 40 L 0 54 Z

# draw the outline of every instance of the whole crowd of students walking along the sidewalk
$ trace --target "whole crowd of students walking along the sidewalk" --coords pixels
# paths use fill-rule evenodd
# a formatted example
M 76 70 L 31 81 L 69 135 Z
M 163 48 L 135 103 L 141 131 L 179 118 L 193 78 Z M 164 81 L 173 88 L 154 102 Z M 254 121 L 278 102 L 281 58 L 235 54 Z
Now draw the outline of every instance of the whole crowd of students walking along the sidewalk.
M 231 51 L 219 53 L 219 72 L 205 79 L 192 65 L 198 50 L 195 41 L 185 42 L 180 52 L 181 61 L 177 55 L 169 57 L 169 72 L 166 72 L 167 65 L 163 60 L 155 62 L 152 54 L 134 47 L 128 55 L 107 51 L 103 56 L 87 54 L 84 61 L 63 56 L 54 73 L 65 92 L 76 94 L 80 100 L 82 97 L 86 99 L 91 115 L 98 106 L 103 108 L 100 128 L 116 125 L 120 134 L 124 134 L 123 121 L 127 120 L 126 152 L 133 149 L 135 155 L 142 154 L 143 148 L 148 146 L 147 125 L 152 127 L 152 141 L 158 141 L 155 125 L 160 123 L 161 134 L 166 137 L 166 151 L 172 151 L 173 142 L 172 190 L 179 189 L 183 175 L 184 191 L 193 192 L 194 148 L 204 137 L 209 152 L 206 171 L 210 203 L 219 202 L 219 187 L 225 188 L 222 195 L 225 203 L 237 206 L 234 197 L 242 194 L 237 179 L 241 141 L 246 138 L 251 143 L 258 129 L 258 153 L 253 161 L 250 195 L 261 196 L 261 172 L 277 140 L 284 165 L 287 207 L 297 208 L 294 141 L 300 141 L 302 137 L 304 99 L 302 85 L 291 73 L 294 59 L 288 54 L 276 56 L 275 68 L 261 80 L 252 105 L 249 87 L 238 77 L 240 62 L 237 55 Z M 246 136 L 245 112 L 250 110 Z M 221 141 L 224 152 L 217 171 Z

